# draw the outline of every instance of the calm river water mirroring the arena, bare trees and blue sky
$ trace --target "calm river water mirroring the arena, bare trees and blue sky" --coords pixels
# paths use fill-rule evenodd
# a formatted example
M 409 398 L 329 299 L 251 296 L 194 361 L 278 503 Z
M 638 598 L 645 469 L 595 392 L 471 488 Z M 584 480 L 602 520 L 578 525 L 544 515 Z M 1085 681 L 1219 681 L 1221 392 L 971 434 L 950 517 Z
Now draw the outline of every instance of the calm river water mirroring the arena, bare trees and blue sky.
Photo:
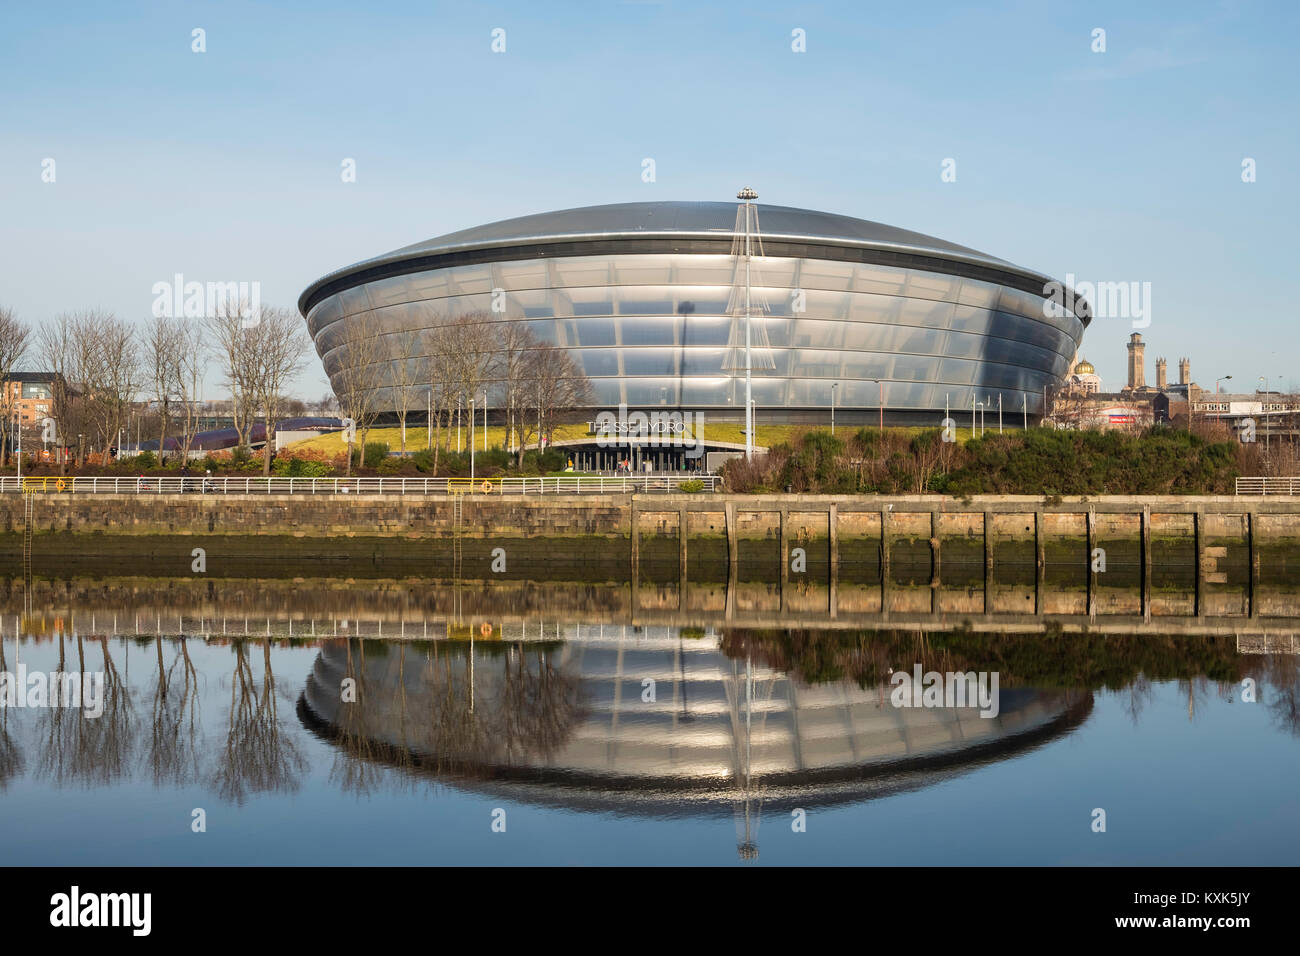
M 1300 857 L 1300 658 L 1275 626 L 634 626 L 618 589 L 363 584 L 10 594 L 6 862 Z M 51 674 L 79 701 L 43 700 Z

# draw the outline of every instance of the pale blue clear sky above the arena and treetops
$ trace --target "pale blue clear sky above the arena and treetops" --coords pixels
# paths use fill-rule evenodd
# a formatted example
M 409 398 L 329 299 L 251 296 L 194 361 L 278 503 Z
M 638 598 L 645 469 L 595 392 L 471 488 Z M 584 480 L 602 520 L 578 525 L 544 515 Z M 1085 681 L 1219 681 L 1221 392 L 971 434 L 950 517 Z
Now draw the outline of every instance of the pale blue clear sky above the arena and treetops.
M 1148 381 L 1187 355 L 1210 388 L 1300 382 L 1297 34 L 1300 4 L 1247 0 L 0 0 L 0 304 L 144 320 L 183 273 L 291 306 L 455 229 L 751 185 L 1150 282 Z M 1130 332 L 1084 338 L 1108 389 Z M 312 356 L 298 392 L 326 389 Z

